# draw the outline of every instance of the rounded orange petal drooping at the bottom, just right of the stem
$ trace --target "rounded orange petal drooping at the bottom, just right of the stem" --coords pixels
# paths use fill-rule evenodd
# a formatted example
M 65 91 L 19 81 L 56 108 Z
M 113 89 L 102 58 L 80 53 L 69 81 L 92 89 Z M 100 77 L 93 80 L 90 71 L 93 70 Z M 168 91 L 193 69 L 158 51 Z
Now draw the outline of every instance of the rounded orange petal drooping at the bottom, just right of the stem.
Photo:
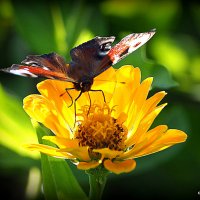
M 105 160 L 103 164 L 107 170 L 115 174 L 128 173 L 134 170 L 136 167 L 135 160 L 124 160 L 124 161 Z

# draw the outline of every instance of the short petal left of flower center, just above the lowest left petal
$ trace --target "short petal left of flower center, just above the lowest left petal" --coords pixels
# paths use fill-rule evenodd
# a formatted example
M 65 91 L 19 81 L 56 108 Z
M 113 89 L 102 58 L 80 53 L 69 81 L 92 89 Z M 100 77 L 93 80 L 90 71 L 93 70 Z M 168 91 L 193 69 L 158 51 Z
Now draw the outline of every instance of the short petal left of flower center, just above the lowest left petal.
M 77 148 L 79 141 L 77 139 L 66 139 L 57 136 L 43 136 L 42 139 L 48 140 L 56 144 L 59 148 Z

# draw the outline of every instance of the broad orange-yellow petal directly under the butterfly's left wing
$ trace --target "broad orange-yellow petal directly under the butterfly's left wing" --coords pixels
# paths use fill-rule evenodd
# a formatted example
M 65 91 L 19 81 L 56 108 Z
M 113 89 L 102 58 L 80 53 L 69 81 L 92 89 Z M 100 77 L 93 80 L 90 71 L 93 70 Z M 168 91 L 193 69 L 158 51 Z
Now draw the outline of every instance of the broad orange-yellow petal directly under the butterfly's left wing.
M 46 97 L 59 115 L 61 125 L 69 126 L 69 129 L 74 128 L 75 112 L 84 105 L 90 105 L 89 96 L 87 92 L 82 93 L 80 98 L 76 101 L 76 108 L 74 100 L 79 96 L 80 91 L 75 89 L 68 90 L 68 88 L 74 88 L 72 83 L 57 80 L 45 80 L 37 85 L 39 92 Z M 76 111 L 75 111 L 76 109 Z M 79 117 L 76 118 L 78 120 Z

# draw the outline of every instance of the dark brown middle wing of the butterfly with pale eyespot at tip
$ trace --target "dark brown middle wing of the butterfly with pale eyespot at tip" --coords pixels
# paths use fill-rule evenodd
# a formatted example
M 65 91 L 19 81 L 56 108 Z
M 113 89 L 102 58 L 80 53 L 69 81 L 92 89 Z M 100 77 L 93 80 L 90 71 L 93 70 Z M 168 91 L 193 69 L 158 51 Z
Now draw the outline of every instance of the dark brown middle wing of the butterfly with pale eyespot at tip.
M 95 37 L 70 51 L 72 61 L 67 70 L 69 77 L 76 82 L 84 82 L 84 78 L 93 78 L 102 59 L 111 49 L 115 37 Z

